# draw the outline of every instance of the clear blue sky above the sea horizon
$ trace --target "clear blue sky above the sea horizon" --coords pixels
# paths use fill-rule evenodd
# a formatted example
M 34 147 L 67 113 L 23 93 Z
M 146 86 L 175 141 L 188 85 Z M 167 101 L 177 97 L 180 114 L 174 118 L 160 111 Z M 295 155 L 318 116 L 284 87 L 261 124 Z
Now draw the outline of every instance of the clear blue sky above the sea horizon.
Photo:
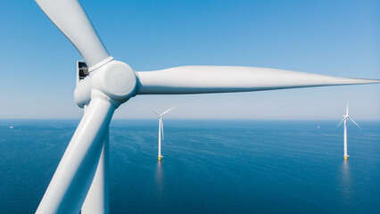
M 380 2 L 83 0 L 108 51 L 135 70 L 239 65 L 380 79 Z M 76 119 L 77 50 L 34 1 L 0 7 L 0 119 Z M 116 112 L 153 119 L 380 120 L 380 85 L 144 95 Z M 339 122 L 339 121 L 338 121 Z

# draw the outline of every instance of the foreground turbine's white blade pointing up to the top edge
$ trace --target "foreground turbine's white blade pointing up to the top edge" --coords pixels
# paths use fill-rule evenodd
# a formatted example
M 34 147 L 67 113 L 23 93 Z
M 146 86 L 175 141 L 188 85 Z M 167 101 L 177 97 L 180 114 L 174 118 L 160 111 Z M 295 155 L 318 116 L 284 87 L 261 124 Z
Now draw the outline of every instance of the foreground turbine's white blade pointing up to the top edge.
M 99 62 L 107 61 L 110 55 L 78 0 L 36 0 L 36 2 L 77 48 L 89 70 Z

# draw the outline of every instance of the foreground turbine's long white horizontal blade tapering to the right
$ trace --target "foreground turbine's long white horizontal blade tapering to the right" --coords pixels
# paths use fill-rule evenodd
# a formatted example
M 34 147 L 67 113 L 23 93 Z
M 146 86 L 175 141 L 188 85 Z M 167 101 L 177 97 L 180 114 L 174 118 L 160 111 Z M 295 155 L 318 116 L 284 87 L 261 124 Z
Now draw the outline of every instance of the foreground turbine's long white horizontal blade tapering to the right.
M 139 71 L 140 95 L 203 94 L 379 83 L 380 80 L 238 66 L 183 66 Z

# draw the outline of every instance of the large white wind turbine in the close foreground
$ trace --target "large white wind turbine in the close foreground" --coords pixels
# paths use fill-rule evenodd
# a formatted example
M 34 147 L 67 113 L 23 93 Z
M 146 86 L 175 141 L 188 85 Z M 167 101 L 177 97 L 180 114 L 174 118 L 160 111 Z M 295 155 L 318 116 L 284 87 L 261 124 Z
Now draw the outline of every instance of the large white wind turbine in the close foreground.
M 379 83 L 380 80 L 238 66 L 135 71 L 113 59 L 78 0 L 36 0 L 68 37 L 89 74 L 74 98 L 86 108 L 37 213 L 108 213 L 108 129 L 113 112 L 136 95 L 177 95 Z M 87 106 L 87 107 L 86 107 Z

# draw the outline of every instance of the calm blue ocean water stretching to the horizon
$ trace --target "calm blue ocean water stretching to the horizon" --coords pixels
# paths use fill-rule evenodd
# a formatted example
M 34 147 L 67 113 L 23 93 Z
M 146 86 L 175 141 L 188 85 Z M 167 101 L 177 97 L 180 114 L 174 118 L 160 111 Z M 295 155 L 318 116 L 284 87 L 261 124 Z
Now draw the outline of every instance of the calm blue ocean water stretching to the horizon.
M 113 120 L 111 213 L 379 213 L 380 123 Z M 14 128 L 9 128 L 10 126 Z M 0 120 L 0 213 L 34 213 L 78 120 Z M 317 127 L 320 128 L 317 128 Z

